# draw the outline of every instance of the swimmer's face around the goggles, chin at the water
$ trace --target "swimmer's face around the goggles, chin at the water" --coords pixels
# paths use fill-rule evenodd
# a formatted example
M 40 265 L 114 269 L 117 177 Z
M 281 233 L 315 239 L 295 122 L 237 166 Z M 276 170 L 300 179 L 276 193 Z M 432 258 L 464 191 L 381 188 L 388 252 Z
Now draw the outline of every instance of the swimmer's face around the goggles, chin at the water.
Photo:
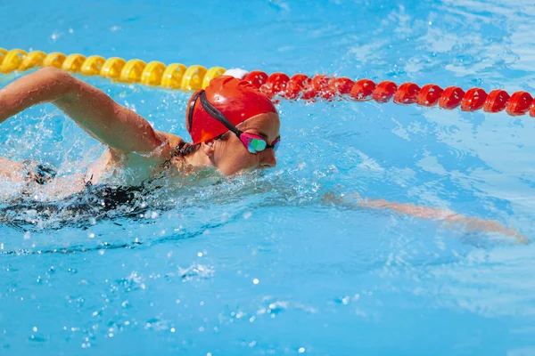
M 271 144 L 279 138 L 280 126 L 278 115 L 269 112 L 251 117 L 236 127 L 244 133 L 257 134 Z M 272 149 L 251 153 L 233 133 L 227 133 L 226 140 L 213 142 L 212 160 L 218 171 L 225 175 L 276 166 L 275 152 Z

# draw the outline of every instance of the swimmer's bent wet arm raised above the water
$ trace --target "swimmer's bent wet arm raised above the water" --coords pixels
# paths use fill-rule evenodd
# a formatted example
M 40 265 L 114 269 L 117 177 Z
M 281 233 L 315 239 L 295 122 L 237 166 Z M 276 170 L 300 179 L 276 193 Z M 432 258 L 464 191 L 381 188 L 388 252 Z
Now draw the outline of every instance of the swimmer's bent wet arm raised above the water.
M 94 86 L 52 67 L 39 69 L 0 90 L 0 124 L 32 105 L 51 102 L 95 139 L 121 153 L 165 155 L 167 139 L 131 109 Z

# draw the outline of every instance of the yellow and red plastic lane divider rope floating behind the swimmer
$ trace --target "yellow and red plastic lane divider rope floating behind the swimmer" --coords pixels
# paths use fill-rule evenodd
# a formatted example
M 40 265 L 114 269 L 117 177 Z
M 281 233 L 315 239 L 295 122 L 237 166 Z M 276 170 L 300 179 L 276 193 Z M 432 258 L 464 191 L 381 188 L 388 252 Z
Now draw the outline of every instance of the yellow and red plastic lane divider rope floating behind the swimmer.
M 222 67 L 206 69 L 200 65 L 185 67 L 184 64 L 165 65 L 160 61 L 145 63 L 141 60 L 125 61 L 119 57 L 105 59 L 92 55 L 65 55 L 63 53 L 44 53 L 33 51 L 27 53 L 21 49 L 6 51 L 0 48 L 0 73 L 24 71 L 35 67 L 56 67 L 72 73 L 86 76 L 101 76 L 122 83 L 140 83 L 161 86 L 166 89 L 192 91 L 203 89 L 214 77 L 226 72 Z M 511 95 L 505 90 L 495 89 L 486 93 L 481 88 L 471 88 L 466 92 L 458 86 L 442 89 L 439 85 L 428 84 L 422 87 L 414 83 L 396 85 L 391 81 L 374 83 L 369 79 L 353 81 L 347 77 L 327 77 L 317 75 L 308 77 L 296 74 L 288 77 L 284 73 L 268 76 L 261 70 L 253 70 L 243 77 L 251 85 L 276 100 L 281 97 L 288 100 L 316 101 L 318 99 L 348 99 L 353 101 L 388 102 L 397 104 L 415 104 L 441 109 L 457 109 L 495 113 L 506 110 L 511 116 L 530 113 L 535 117 L 535 101 L 530 93 L 516 92 Z

